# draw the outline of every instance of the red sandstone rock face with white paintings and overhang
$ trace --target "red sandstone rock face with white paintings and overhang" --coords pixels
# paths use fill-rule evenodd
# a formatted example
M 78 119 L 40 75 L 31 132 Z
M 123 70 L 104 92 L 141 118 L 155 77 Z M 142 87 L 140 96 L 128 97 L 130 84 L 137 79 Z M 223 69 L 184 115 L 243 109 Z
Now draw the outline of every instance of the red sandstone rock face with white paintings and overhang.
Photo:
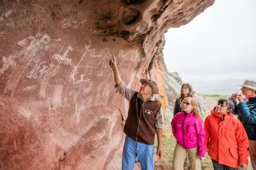
M 0 169 L 120 169 L 111 54 L 130 87 L 162 85 L 157 42 L 213 1 L 0 1 Z

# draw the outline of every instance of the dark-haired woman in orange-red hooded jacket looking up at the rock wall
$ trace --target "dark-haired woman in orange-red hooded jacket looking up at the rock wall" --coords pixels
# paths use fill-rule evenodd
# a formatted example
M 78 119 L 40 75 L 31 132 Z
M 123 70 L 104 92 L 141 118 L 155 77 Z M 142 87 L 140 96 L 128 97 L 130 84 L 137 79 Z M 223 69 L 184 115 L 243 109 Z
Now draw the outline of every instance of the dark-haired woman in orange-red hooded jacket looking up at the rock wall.
M 214 170 L 244 169 L 248 164 L 248 137 L 232 110 L 232 101 L 220 99 L 204 122 L 205 149 L 212 158 Z

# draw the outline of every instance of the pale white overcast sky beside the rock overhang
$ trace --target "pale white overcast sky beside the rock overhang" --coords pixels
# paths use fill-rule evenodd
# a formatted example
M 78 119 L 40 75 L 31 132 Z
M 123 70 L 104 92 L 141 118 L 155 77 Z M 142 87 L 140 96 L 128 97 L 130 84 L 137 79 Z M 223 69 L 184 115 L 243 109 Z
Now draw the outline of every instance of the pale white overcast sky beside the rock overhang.
M 164 60 L 183 81 L 256 77 L 256 0 L 215 0 L 165 34 Z

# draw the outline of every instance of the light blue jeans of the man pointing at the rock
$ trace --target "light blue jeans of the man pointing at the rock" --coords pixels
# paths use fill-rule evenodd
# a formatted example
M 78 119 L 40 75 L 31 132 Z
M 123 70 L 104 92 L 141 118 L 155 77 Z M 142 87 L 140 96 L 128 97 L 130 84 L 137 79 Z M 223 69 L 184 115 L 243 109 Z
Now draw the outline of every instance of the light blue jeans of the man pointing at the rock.
M 133 170 L 138 157 L 141 170 L 154 170 L 154 145 L 136 142 L 126 136 L 123 149 L 122 170 Z

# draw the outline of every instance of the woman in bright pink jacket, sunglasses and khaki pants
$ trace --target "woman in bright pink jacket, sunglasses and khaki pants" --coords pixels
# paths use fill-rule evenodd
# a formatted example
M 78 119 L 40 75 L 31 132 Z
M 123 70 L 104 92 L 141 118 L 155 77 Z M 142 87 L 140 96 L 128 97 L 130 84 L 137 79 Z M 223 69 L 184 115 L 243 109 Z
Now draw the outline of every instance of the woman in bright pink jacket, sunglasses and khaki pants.
M 188 153 L 191 170 L 201 170 L 201 160 L 205 157 L 205 130 L 197 101 L 185 98 L 183 110 L 172 119 L 172 132 L 177 140 L 173 155 L 173 170 L 183 170 Z

